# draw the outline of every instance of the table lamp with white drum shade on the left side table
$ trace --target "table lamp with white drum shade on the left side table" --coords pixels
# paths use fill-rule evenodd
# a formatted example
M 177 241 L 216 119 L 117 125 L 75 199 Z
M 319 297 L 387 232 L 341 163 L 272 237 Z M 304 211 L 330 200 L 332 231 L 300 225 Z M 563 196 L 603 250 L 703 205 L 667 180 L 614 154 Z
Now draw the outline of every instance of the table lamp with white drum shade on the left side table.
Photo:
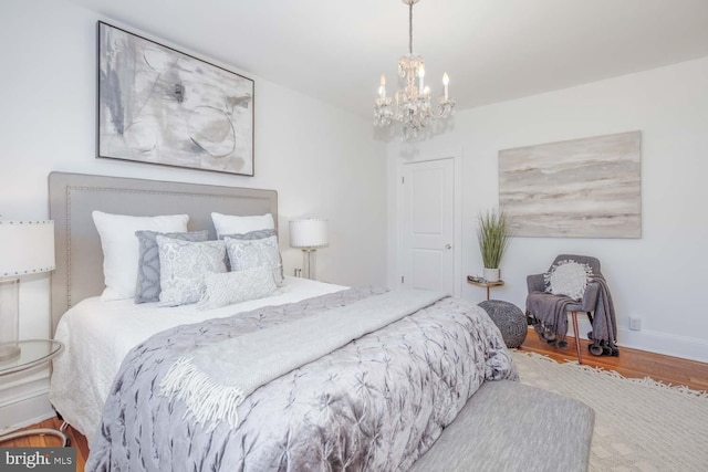
M 53 221 L 0 219 L 0 361 L 20 355 L 20 276 L 53 270 Z

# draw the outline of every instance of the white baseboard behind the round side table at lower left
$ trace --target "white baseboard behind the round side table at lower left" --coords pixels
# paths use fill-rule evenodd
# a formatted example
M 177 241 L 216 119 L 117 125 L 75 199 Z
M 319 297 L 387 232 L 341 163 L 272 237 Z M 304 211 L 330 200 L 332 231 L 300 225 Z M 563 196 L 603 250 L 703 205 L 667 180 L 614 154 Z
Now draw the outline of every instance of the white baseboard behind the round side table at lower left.
M 49 402 L 49 374 L 13 382 L 0 391 L 0 434 L 44 421 L 56 413 Z

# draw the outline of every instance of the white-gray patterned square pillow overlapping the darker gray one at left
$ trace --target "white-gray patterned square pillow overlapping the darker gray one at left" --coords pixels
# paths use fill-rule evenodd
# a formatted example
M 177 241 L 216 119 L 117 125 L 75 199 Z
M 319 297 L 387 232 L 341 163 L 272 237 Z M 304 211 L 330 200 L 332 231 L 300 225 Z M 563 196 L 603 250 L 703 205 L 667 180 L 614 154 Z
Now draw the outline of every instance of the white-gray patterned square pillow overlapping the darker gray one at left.
M 158 235 L 159 304 L 178 306 L 199 302 L 204 276 L 226 272 L 223 241 L 191 242 Z

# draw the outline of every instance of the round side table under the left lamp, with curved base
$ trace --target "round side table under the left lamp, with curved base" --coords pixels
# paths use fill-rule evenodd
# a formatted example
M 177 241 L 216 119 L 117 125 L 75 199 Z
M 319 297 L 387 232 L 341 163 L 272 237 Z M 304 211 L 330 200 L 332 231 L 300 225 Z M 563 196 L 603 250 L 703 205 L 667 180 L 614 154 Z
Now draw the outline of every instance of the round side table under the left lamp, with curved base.
M 0 360 L 0 380 L 11 374 L 31 369 L 44 363 L 49 363 L 64 349 L 64 345 L 53 339 L 27 339 L 18 343 L 20 352 L 8 359 Z M 62 441 L 62 448 L 69 445 L 69 437 L 63 431 L 38 428 L 25 431 L 11 432 L 0 436 L 0 443 L 11 439 L 25 438 L 34 434 L 50 434 Z

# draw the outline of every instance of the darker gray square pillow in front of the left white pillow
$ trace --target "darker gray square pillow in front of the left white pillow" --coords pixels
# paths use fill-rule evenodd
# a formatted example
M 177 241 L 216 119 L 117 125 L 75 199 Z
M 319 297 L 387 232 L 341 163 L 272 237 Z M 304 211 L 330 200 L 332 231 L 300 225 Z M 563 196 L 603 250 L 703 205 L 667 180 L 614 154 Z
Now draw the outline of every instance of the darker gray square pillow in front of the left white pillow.
M 156 231 L 136 231 L 138 241 L 137 285 L 135 287 L 135 303 L 159 302 L 159 249 L 157 237 L 178 239 L 181 241 L 206 241 L 208 231 L 188 233 L 158 233 Z

